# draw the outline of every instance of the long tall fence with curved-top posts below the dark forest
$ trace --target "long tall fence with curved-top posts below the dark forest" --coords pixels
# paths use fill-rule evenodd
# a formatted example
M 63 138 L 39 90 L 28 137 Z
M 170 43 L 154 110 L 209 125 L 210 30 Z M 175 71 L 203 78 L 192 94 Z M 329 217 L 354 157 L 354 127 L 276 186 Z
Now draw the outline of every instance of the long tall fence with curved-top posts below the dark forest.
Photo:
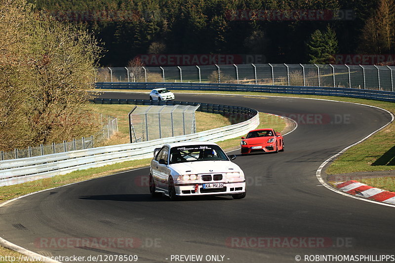
M 97 82 L 211 82 L 394 91 L 395 66 L 241 64 L 100 68 Z

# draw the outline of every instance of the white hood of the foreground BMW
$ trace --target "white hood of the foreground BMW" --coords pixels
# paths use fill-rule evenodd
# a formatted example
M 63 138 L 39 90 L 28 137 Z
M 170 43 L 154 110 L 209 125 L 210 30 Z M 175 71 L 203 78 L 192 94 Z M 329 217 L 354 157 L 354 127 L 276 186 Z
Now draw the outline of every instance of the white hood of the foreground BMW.
M 231 161 L 195 161 L 173 163 L 171 167 L 179 174 L 212 174 L 240 172 L 240 167 Z

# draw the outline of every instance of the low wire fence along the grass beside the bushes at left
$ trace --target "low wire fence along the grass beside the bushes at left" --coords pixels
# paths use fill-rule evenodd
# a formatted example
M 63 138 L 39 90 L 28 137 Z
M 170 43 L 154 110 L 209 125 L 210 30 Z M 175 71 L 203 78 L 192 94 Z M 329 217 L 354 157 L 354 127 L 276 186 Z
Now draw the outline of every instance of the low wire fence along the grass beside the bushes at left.
M 0 151 L 0 160 L 11 160 L 45 154 L 53 154 L 71 150 L 84 150 L 97 147 L 105 140 L 110 139 L 118 132 L 118 118 L 105 116 L 100 114 L 102 129 L 90 137 L 82 137 L 81 139 L 73 139 L 71 142 L 63 141 L 63 143 L 52 143 L 50 145 L 40 145 L 36 147 L 28 147 L 27 149 L 14 149 L 13 151 Z

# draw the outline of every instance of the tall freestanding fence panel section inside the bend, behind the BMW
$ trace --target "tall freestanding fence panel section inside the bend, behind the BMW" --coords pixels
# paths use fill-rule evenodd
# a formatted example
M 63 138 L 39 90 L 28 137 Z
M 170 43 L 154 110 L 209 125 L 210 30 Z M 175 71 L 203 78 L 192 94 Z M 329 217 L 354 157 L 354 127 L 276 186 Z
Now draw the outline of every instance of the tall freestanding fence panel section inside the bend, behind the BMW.
M 135 107 L 129 113 L 130 142 L 144 142 L 196 132 L 199 106 Z

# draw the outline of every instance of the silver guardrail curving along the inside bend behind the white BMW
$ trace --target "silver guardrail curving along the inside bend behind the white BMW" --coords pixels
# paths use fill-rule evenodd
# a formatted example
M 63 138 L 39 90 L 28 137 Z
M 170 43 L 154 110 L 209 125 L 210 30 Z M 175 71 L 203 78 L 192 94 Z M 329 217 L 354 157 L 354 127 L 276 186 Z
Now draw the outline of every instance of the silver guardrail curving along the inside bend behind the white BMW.
M 96 100 L 96 103 L 133 103 L 138 105 L 168 104 L 197 105 L 186 102 L 151 102 L 149 100 Z M 241 136 L 259 125 L 258 112 L 252 109 L 236 106 L 204 104 L 201 111 L 245 115 L 247 120 L 226 127 L 202 131 L 189 135 L 157 139 L 153 141 L 106 146 L 87 150 L 61 152 L 36 157 L 0 161 L 0 187 L 15 185 L 70 173 L 92 167 L 153 157 L 155 148 L 165 143 L 183 141 L 211 141 L 218 142 Z

